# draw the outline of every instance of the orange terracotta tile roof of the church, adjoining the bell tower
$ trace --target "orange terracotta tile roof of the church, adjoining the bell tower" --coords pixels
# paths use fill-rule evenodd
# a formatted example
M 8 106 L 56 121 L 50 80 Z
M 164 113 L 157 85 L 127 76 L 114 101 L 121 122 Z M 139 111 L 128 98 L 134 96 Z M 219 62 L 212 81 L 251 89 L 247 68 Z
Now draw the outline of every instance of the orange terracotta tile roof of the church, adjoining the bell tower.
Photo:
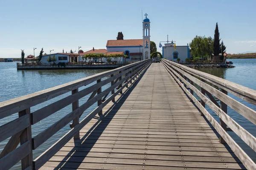
M 138 40 L 108 40 L 107 47 L 113 46 L 139 46 L 143 45 L 143 39 Z

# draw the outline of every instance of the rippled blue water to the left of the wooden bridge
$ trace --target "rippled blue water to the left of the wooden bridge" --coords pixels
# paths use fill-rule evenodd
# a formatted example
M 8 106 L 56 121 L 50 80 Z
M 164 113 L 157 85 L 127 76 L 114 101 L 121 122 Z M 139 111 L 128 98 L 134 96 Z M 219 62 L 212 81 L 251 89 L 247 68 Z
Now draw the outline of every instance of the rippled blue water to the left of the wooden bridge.
M 84 77 L 91 76 L 93 74 L 97 74 L 107 70 L 26 70 L 21 71 L 16 68 L 15 62 L 0 62 L 0 102 L 13 99 L 19 96 L 23 96 L 26 94 L 31 94 L 36 91 L 41 91 L 47 88 L 54 87 L 56 85 L 61 85 L 67 82 L 71 82 L 77 79 L 81 79 Z M 104 90 L 109 85 L 103 87 Z M 84 89 L 85 87 L 79 88 Z M 35 107 L 31 108 L 31 112 L 38 110 L 46 105 L 51 104 L 52 102 L 57 101 L 58 99 L 64 98 L 65 96 L 70 95 L 70 93 L 58 96 L 54 99 L 50 99 L 47 102 L 43 102 Z M 79 105 L 82 102 L 86 102 L 88 99 L 88 95 L 79 100 Z M 93 108 L 96 107 L 96 104 L 87 109 L 81 119 L 87 116 L 88 113 L 93 111 Z M 66 108 L 61 109 L 60 111 L 52 114 L 51 116 L 43 119 L 41 122 L 32 125 L 32 136 L 37 135 L 41 131 L 47 129 L 50 125 L 57 122 L 59 119 L 64 117 L 67 113 L 72 111 L 71 105 Z M 14 114 L 12 116 L 6 117 L 5 119 L 0 119 L 0 126 L 10 120 L 16 119 L 18 116 Z M 80 119 L 80 120 L 81 120 Z M 58 133 L 52 136 L 49 140 L 47 140 L 44 144 L 38 147 L 33 151 L 34 159 L 41 155 L 49 146 L 54 144 L 60 137 L 62 137 L 65 133 L 70 130 L 69 124 L 62 128 Z M 3 150 L 6 145 L 6 141 L 0 142 L 0 151 Z M 19 170 L 20 164 L 17 164 L 12 169 Z

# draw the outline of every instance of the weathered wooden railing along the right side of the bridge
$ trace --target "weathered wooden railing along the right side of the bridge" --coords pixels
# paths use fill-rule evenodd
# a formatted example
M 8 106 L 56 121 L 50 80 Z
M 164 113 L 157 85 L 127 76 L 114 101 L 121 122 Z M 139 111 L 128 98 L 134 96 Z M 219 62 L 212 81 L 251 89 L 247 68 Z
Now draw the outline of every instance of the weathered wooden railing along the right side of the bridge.
M 201 115 L 205 116 L 217 130 L 220 135 L 220 142 L 227 142 L 244 166 L 249 170 L 255 170 L 256 164 L 232 139 L 232 137 L 227 133 L 227 130 L 232 130 L 236 133 L 236 135 L 238 135 L 254 151 L 256 151 L 256 138 L 227 114 L 227 105 L 255 125 L 256 111 L 228 96 L 227 93 L 229 92 L 253 105 L 256 105 L 256 91 L 166 59 L 162 59 L 162 63 L 183 91 L 185 91 L 189 96 L 190 101 L 194 102 L 200 109 Z M 198 88 L 195 87 L 195 84 L 197 84 L 201 89 L 198 90 Z M 221 90 L 212 87 L 212 85 L 217 86 Z M 200 102 L 193 95 L 194 92 L 200 97 Z M 207 94 L 209 98 L 205 96 L 205 94 Z M 212 95 L 220 100 L 220 105 Z M 205 109 L 205 105 L 208 105 L 209 108 L 219 116 L 220 123 L 218 123 Z

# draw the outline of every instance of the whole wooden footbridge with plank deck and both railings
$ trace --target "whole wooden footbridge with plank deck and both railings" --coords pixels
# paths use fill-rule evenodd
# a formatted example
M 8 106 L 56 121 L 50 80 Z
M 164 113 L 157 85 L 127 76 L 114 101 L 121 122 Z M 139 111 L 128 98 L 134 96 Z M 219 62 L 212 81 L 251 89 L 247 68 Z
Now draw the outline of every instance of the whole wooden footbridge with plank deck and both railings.
M 70 91 L 69 96 L 30 111 Z M 255 162 L 227 131 L 254 151 L 256 138 L 227 114 L 227 105 L 253 124 L 256 111 L 227 93 L 256 105 L 256 91 L 162 59 L 161 63 L 136 62 L 2 102 L 0 119 L 15 113 L 18 117 L 0 126 L 0 142 L 8 140 L 0 153 L 0 170 L 20 160 L 22 170 L 255 170 Z M 84 96 L 87 102 L 81 103 Z M 81 119 L 94 103 L 95 109 Z M 36 123 L 68 105 L 72 111 L 32 134 Z M 33 158 L 33 150 L 70 122 L 70 131 Z

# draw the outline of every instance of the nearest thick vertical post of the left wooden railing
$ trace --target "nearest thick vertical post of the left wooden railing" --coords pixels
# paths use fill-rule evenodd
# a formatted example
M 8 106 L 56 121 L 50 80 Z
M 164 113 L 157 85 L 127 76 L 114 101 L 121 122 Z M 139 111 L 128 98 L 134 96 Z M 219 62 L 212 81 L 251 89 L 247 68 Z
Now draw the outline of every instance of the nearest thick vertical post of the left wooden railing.
M 26 114 L 30 114 L 30 108 L 27 108 L 23 111 L 19 112 L 19 117 L 24 116 Z M 31 120 L 30 120 L 30 115 L 29 115 L 29 127 L 24 129 L 23 133 L 20 135 L 20 145 L 24 144 L 27 141 L 30 141 L 30 153 L 25 156 L 21 160 L 21 169 L 25 170 L 27 167 L 31 166 L 33 167 L 33 151 L 32 151 L 32 132 L 31 132 Z

